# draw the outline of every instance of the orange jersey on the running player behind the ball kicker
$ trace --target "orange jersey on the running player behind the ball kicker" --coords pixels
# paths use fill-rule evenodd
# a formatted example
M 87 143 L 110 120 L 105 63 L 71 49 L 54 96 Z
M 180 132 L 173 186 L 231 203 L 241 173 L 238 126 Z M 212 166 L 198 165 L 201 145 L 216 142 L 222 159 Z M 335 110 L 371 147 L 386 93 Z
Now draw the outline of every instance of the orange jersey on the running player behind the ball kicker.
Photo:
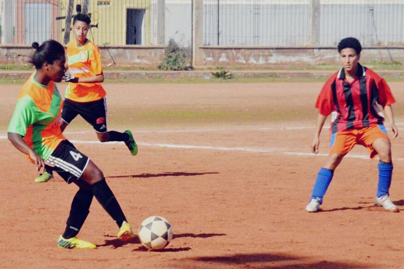
M 98 47 L 87 40 L 78 47 L 76 41 L 67 44 L 69 73 L 77 78 L 92 77 L 103 73 L 103 65 Z M 76 102 L 91 102 L 103 98 L 106 92 L 101 83 L 69 83 L 67 99 Z

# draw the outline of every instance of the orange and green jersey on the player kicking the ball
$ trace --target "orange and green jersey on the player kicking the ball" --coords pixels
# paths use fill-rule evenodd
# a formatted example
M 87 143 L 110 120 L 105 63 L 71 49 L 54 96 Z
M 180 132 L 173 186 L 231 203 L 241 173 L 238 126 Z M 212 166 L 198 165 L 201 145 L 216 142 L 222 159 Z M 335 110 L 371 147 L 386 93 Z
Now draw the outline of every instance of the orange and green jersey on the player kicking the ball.
M 55 82 L 39 84 L 34 74 L 22 86 L 8 132 L 23 136 L 39 156 L 47 159 L 66 138 L 60 130 L 62 97 Z

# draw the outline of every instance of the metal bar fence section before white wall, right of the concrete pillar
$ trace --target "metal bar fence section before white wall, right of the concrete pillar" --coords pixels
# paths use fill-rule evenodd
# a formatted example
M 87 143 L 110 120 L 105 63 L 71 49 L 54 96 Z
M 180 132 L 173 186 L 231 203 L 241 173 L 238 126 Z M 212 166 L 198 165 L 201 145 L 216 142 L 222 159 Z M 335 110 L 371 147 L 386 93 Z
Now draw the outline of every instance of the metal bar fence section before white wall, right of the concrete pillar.
M 402 46 L 403 15 L 401 0 L 205 0 L 204 44 Z

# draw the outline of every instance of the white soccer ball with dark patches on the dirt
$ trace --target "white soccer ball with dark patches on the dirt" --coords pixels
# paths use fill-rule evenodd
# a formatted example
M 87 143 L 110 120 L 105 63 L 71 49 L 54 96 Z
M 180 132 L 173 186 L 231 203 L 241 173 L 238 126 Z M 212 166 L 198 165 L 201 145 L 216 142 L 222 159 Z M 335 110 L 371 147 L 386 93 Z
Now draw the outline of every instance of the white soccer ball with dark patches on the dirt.
M 159 216 L 151 216 L 145 219 L 139 227 L 140 243 L 149 250 L 165 248 L 173 238 L 171 224 Z

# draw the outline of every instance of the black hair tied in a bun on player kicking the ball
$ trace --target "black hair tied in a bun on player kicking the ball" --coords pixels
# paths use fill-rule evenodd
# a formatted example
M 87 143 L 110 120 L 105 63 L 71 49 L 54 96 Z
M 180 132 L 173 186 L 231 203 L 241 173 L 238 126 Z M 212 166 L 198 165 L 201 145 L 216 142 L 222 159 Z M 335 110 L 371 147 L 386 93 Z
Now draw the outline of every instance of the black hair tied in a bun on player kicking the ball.
M 35 48 L 34 54 L 29 57 L 28 63 L 41 69 L 43 63 L 53 64 L 57 60 L 65 57 L 65 48 L 56 40 L 46 40 L 41 45 L 38 42 L 33 42 L 32 47 Z

